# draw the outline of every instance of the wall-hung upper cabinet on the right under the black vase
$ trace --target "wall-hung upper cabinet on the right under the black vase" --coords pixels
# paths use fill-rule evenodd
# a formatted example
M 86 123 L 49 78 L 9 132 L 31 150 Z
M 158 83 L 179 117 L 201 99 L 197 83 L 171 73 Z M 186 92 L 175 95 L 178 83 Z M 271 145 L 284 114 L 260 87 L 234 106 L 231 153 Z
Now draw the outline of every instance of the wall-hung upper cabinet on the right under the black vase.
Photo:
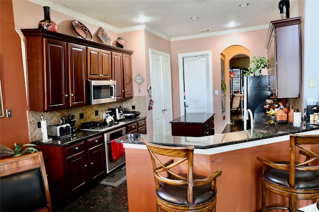
M 272 21 L 266 48 L 269 60 L 270 90 L 278 98 L 300 96 L 301 18 Z

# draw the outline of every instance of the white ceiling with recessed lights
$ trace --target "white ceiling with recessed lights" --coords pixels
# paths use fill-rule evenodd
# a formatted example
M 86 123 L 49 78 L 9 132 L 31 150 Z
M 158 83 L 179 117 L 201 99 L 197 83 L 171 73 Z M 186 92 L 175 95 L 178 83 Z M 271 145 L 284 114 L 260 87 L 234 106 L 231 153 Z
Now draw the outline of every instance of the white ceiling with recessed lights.
M 243 2 L 249 6 L 240 7 Z M 129 31 L 142 25 L 168 39 L 230 29 L 268 28 L 270 21 L 280 19 L 279 0 L 41 0 L 41 4 L 45 3 L 53 9 L 72 10 L 117 30 Z M 145 25 L 136 21 L 140 15 L 148 17 Z M 191 16 L 198 19 L 192 20 Z M 229 21 L 237 25 L 228 28 Z M 208 28 L 211 31 L 199 32 Z

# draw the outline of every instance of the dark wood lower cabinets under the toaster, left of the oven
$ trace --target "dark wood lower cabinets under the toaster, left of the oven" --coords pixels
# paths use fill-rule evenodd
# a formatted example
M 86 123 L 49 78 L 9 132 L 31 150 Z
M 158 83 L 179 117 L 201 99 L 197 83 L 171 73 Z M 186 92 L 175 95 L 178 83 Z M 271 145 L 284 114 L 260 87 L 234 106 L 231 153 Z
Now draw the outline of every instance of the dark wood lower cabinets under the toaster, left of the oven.
M 69 146 L 38 145 L 51 199 L 65 200 L 106 175 L 103 134 Z

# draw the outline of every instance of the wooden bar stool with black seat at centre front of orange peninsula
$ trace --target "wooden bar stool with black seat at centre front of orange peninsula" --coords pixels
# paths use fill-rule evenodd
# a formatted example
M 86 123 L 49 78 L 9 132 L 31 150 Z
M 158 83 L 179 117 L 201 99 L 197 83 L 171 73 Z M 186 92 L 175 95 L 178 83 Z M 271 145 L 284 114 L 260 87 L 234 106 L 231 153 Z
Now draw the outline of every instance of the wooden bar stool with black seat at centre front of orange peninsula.
M 216 212 L 216 178 L 220 170 L 209 177 L 193 174 L 193 146 L 170 147 L 142 141 L 151 155 L 158 212 Z M 162 162 L 159 155 L 169 159 Z M 187 163 L 187 171 L 178 173 L 183 162 Z

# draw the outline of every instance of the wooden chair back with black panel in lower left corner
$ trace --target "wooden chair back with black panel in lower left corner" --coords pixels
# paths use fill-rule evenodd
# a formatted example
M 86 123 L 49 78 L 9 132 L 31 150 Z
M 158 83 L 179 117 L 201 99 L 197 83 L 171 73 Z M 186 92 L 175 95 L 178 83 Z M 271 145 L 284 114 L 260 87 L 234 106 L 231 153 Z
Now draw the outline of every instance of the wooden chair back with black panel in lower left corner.
M 0 160 L 0 211 L 52 212 L 42 152 Z

